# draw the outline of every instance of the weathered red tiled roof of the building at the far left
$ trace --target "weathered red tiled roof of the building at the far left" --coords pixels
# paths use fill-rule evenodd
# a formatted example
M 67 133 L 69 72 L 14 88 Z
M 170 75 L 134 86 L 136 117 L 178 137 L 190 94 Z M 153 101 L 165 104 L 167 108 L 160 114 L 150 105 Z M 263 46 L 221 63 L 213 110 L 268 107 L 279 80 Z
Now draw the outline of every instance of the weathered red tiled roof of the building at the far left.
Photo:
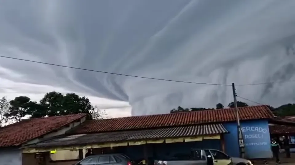
M 75 114 L 46 118 L 25 119 L 0 128 L 0 147 L 18 146 L 86 116 Z

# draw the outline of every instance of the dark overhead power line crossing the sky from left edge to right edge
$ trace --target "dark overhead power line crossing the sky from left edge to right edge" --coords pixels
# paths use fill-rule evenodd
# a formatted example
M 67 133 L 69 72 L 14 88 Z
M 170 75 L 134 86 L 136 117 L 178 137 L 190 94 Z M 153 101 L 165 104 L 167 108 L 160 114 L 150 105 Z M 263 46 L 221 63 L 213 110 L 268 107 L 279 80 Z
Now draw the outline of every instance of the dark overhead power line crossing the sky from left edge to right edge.
M 136 77 L 136 78 L 142 78 L 142 79 L 153 79 L 153 80 L 170 81 L 170 82 L 182 82 L 182 83 L 201 84 L 201 85 L 232 86 L 230 84 L 214 84 L 214 83 L 178 81 L 178 80 L 170 80 L 170 79 L 158 79 L 158 78 L 152 78 L 152 77 L 126 75 L 126 74 L 112 73 L 112 72 L 106 72 L 106 71 L 96 71 L 96 70 L 92 70 L 92 69 L 77 68 L 77 67 L 71 67 L 71 66 L 65 66 L 65 65 L 59 65 L 59 64 L 51 64 L 51 63 L 45 63 L 45 62 L 39 62 L 39 61 L 33 61 L 33 60 L 26 60 L 26 59 L 21 59 L 21 58 L 14 58 L 14 57 L 7 57 L 7 56 L 1 56 L 1 55 L 0 55 L 0 57 L 9 58 L 9 59 L 13 59 L 13 60 L 22 60 L 22 61 L 27 61 L 27 62 L 33 62 L 33 63 L 38 63 L 38 64 L 46 64 L 46 65 L 52 65 L 52 66 L 58 66 L 58 67 L 79 69 L 79 70 L 84 70 L 84 71 L 93 71 L 93 72 L 112 74 L 112 75 L 121 75 L 121 76 L 127 76 L 127 77 Z M 273 84 L 273 83 L 280 83 L 280 82 L 295 82 L 295 80 L 277 81 L 277 82 L 264 82 L 264 83 L 254 83 L 254 84 L 237 84 L 236 86 L 265 85 L 265 84 Z

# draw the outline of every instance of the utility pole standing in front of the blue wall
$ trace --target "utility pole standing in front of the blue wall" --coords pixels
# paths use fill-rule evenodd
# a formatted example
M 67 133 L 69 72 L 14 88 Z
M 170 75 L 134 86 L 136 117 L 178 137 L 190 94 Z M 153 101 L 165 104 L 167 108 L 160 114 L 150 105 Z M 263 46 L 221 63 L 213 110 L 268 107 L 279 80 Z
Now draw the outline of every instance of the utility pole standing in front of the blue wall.
M 237 94 L 236 94 L 236 89 L 234 87 L 234 83 L 232 83 L 232 87 L 233 87 L 233 95 L 234 95 L 234 108 L 236 110 L 237 126 L 238 126 L 239 153 L 240 153 L 240 157 L 244 158 L 245 157 L 245 145 L 244 145 L 244 138 L 243 138 L 241 125 L 240 125 L 239 110 L 238 110 L 238 105 L 237 105 Z

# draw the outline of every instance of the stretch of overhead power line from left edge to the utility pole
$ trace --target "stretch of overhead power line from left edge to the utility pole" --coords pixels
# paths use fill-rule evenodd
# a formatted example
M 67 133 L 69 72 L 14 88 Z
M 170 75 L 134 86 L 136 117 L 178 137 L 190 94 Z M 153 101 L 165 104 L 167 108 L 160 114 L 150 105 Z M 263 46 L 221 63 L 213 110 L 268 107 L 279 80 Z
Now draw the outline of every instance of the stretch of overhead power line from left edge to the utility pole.
M 70 66 L 65 66 L 65 65 L 50 64 L 50 63 L 45 63 L 45 62 L 39 62 L 39 61 L 33 61 L 33 60 L 26 60 L 26 59 L 21 59 L 21 58 L 14 58 L 14 57 L 7 57 L 7 56 L 1 56 L 1 55 L 0 55 L 0 57 L 14 59 L 14 60 L 22 60 L 22 61 L 33 62 L 33 63 L 39 63 L 39 64 L 46 64 L 46 65 L 53 65 L 53 66 L 65 67 L 65 68 L 72 68 L 72 69 L 80 69 L 80 70 L 85 70 L 85 71 L 93 71 L 93 72 L 99 72 L 99 73 L 106 73 L 106 74 L 112 74 L 112 75 L 137 77 L 137 78 L 143 78 L 143 79 L 153 79 L 153 80 L 171 81 L 171 82 L 183 82 L 183 83 L 190 83 L 190 84 L 231 86 L 229 84 L 213 84 L 213 83 L 202 83 L 202 82 L 188 82 L 188 81 L 178 81 L 178 80 L 169 80 L 169 79 L 157 79 L 157 78 L 143 77 L 143 76 L 136 76 L 136 75 L 125 75 L 125 74 L 112 73 L 112 72 L 106 72 L 106 71 L 96 71 L 96 70 L 92 70 L 92 69 L 84 69 L 84 68 L 70 67 Z

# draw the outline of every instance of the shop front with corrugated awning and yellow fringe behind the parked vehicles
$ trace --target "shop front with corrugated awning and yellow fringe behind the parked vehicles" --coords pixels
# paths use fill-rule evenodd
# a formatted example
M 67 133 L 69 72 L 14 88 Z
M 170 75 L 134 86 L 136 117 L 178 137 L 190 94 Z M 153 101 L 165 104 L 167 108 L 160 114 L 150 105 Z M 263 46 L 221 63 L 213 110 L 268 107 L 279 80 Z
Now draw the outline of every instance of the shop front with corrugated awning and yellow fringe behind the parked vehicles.
M 70 135 L 25 146 L 23 153 L 65 150 L 84 153 L 92 149 L 93 154 L 124 153 L 133 160 L 165 159 L 190 155 L 192 148 L 224 150 L 224 134 L 228 131 L 222 124 L 192 125 L 159 129 L 113 131 L 95 134 Z M 80 152 L 79 152 L 80 151 Z M 49 153 L 48 153 L 49 154 Z M 77 156 L 76 156 L 77 157 Z

